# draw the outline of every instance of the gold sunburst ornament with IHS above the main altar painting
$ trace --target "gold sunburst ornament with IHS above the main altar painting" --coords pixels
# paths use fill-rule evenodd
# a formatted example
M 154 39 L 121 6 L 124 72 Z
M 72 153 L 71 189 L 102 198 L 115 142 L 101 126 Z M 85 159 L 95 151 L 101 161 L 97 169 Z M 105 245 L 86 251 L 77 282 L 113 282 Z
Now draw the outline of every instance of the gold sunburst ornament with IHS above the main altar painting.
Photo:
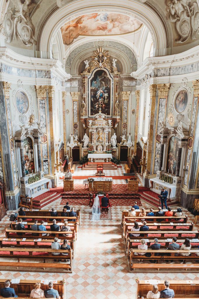
M 91 68 L 108 68 L 111 69 L 111 63 L 109 60 L 110 55 L 108 54 L 109 51 L 104 51 L 104 48 L 98 48 L 96 51 L 93 52 L 92 56 L 92 66 Z

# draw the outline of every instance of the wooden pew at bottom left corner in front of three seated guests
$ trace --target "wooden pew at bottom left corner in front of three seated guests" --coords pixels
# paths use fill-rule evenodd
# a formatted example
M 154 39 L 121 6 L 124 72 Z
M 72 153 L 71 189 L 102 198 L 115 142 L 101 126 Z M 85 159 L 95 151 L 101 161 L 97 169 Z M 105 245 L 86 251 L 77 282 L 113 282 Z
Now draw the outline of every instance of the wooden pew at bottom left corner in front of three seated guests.
M 7 279 L 11 278 L 7 277 Z M 0 279 L 0 289 L 4 288 L 4 282 L 6 279 Z M 20 280 L 20 283 L 11 283 L 10 287 L 15 289 L 15 293 L 18 295 L 18 298 L 29 298 L 30 292 L 35 288 L 35 283 L 40 282 L 40 280 Z M 44 285 L 41 283 L 41 289 L 44 291 L 48 289 L 48 285 Z M 53 289 L 58 290 L 58 293 L 61 297 L 61 299 L 66 298 L 66 286 L 61 282 L 61 280 L 58 280 L 56 283 L 53 283 Z

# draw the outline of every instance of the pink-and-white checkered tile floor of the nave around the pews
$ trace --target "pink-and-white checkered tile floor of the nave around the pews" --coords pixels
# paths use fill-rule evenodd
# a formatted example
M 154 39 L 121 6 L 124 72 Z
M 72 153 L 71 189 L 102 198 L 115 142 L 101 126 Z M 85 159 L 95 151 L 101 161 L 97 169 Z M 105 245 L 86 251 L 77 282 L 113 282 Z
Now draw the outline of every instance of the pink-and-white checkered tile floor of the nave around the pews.
M 46 209 L 52 207 L 60 209 L 60 200 L 54 202 L 54 205 L 47 206 Z M 1 271 L 0 278 L 34 279 L 38 281 L 51 277 L 56 280 L 66 278 L 66 299 L 135 299 L 135 277 L 137 276 L 140 280 L 197 280 L 199 278 L 197 274 L 188 271 L 187 273 L 171 274 L 129 273 L 120 225 L 121 207 L 111 208 L 112 220 L 101 220 L 95 223 L 89 220 L 89 213 L 86 212 L 87 206 L 75 206 L 75 208 L 82 209 L 82 225 L 77 240 L 72 274 Z M 144 208 L 149 208 L 149 205 L 144 204 Z M 194 220 L 193 215 L 191 216 L 189 212 L 186 214 L 190 221 Z M 1 236 L 9 223 L 8 217 L 4 217 L 0 222 Z M 196 225 L 195 228 L 198 229 L 199 225 Z

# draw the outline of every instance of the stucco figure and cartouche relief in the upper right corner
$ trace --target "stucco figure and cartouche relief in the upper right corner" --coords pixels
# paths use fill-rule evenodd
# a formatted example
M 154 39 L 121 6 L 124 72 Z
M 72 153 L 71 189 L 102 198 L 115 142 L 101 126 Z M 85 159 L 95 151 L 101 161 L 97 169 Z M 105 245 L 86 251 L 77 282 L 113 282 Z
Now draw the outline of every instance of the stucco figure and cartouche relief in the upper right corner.
M 175 23 L 176 30 L 180 36 L 176 43 L 183 43 L 191 36 L 196 39 L 199 28 L 198 4 L 190 0 L 167 0 L 166 1 L 169 20 Z

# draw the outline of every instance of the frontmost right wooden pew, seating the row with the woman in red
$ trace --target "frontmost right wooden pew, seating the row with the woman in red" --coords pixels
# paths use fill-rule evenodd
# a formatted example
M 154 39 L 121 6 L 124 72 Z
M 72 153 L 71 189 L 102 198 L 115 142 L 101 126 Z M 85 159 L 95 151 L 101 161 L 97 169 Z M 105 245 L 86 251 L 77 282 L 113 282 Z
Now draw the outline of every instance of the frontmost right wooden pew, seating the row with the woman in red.
M 158 216 L 145 216 L 145 217 L 124 217 L 123 219 L 123 223 L 127 222 L 127 223 L 132 223 L 132 222 L 142 222 L 141 219 L 145 219 L 145 221 L 147 223 L 150 223 L 150 222 L 157 222 L 157 219 L 161 219 L 161 223 L 170 223 L 170 222 L 176 222 L 176 223 L 186 223 L 187 220 L 188 220 L 188 216 L 185 215 L 185 216 L 180 216 L 180 217 L 177 217 L 177 216 L 161 216 L 161 217 L 158 217 Z M 129 219 L 129 220 L 128 220 Z M 136 220 L 137 219 L 137 220 Z M 152 221 L 149 221 L 150 219 L 153 219 Z M 169 221 L 165 221 L 165 219 L 168 219 Z M 182 219 L 182 220 L 181 220 Z

